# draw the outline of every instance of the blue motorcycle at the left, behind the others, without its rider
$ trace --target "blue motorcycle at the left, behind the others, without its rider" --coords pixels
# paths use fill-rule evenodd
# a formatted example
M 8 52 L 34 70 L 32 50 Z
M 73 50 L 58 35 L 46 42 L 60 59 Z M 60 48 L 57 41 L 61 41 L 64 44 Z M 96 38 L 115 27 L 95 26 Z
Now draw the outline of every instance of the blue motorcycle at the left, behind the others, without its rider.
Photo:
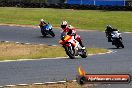
M 47 35 L 51 35 L 52 37 L 55 37 L 55 33 L 53 32 L 52 25 L 49 23 L 41 28 L 41 33 L 44 37 Z

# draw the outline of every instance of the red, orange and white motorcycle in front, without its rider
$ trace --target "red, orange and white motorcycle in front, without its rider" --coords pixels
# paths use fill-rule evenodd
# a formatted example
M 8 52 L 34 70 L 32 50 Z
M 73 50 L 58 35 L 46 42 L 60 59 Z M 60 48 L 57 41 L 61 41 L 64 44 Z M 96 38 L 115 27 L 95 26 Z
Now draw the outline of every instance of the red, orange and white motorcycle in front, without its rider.
M 74 39 L 74 36 L 65 35 L 61 37 L 59 43 L 65 49 L 66 54 L 71 58 L 75 59 L 75 56 L 81 56 L 82 58 L 87 57 L 86 49 L 82 49 L 79 42 Z

